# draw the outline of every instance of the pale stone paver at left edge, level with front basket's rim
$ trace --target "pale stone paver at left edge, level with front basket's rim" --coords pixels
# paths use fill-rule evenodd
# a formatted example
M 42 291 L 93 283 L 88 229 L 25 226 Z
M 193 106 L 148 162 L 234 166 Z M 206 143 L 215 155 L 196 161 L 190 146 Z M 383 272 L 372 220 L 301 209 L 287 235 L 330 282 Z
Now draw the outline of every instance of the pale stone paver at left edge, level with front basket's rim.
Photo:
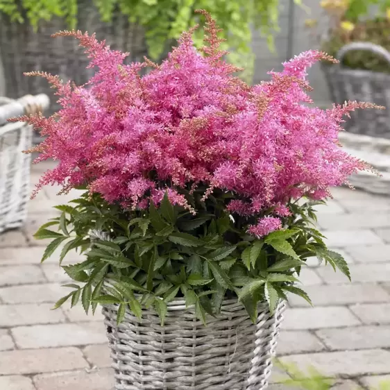
M 51 311 L 51 304 L 0 305 L 0 328 L 36 325 L 39 323 L 65 322 L 66 317 L 60 310 Z

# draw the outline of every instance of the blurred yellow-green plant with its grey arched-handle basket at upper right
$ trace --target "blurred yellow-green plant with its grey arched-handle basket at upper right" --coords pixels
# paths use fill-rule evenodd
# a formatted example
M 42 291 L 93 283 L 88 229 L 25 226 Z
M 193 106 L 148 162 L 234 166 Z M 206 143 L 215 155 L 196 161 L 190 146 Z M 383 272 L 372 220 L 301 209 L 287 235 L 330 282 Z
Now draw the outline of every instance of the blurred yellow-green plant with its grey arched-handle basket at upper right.
M 321 49 L 340 61 L 323 65 L 332 100 L 371 101 L 387 107 L 354 112 L 346 130 L 390 139 L 390 1 L 323 0 L 321 6 L 327 26 L 319 35 Z

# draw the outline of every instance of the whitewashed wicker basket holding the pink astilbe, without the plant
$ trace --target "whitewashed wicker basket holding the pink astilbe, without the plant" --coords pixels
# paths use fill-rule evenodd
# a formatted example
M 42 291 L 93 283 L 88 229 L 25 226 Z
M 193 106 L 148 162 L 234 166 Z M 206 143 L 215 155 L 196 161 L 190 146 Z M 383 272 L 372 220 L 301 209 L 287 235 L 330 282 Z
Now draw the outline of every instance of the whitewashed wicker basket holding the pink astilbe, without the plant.
M 116 390 L 262 390 L 271 374 L 282 312 L 266 304 L 253 324 L 237 300 L 225 300 L 207 327 L 183 300 L 168 305 L 164 326 L 158 314 L 142 320 L 126 312 L 117 325 L 117 305 L 103 314 L 115 368 Z

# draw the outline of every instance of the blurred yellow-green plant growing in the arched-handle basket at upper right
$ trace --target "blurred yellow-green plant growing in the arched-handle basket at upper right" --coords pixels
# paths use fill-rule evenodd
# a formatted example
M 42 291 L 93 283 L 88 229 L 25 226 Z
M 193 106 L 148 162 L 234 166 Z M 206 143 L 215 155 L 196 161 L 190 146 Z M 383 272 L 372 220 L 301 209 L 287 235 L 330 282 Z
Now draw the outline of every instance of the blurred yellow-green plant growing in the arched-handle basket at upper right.
M 390 51 L 390 0 L 322 0 L 320 4 L 328 20 L 327 31 L 319 33 L 323 51 L 336 56 L 350 42 L 372 42 Z M 307 19 L 306 25 L 315 28 L 317 21 Z M 389 62 L 369 51 L 351 51 L 343 63 L 352 69 L 390 73 Z

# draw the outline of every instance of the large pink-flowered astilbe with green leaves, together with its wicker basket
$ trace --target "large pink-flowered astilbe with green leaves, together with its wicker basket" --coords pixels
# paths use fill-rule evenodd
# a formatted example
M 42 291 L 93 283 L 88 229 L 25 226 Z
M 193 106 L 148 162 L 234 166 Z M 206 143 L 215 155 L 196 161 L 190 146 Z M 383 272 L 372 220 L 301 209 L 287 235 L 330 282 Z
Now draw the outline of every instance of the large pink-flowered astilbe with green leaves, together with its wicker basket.
M 58 118 L 24 116 L 46 139 L 43 185 L 85 194 L 37 231 L 80 264 L 56 304 L 103 305 L 117 389 L 266 387 L 287 294 L 317 256 L 349 278 L 310 221 L 350 173 L 370 169 L 338 146 L 342 117 L 370 103 L 312 108 L 309 51 L 253 87 L 223 60 L 218 26 L 205 46 L 183 33 L 167 60 L 124 65 L 94 36 L 76 37 L 99 70 L 85 87 L 33 72 L 57 88 Z M 144 76 L 139 71 L 153 69 Z M 58 229 L 56 229 L 58 228 Z

